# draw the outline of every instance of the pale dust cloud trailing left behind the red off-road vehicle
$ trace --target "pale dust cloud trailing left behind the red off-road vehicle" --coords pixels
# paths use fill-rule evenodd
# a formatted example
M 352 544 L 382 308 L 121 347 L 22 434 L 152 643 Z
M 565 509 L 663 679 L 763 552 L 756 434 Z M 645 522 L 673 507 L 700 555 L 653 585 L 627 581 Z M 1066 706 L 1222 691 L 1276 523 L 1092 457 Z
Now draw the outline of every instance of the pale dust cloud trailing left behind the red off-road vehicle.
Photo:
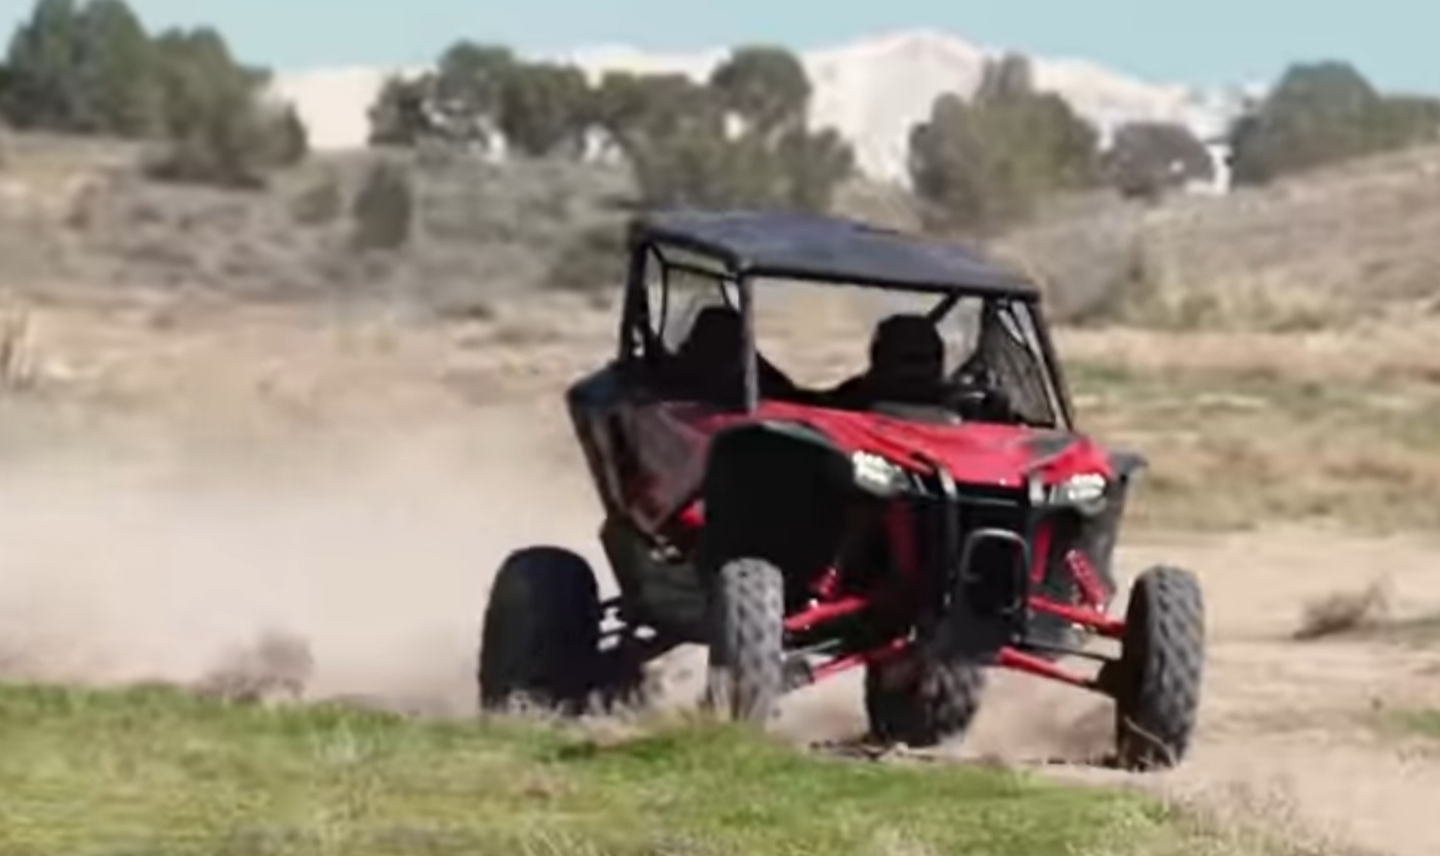
M 599 558 L 557 419 L 492 409 L 464 428 L 310 438 L 312 465 L 30 455 L 0 484 L 0 674 L 274 680 L 469 710 L 504 555 L 554 542 Z

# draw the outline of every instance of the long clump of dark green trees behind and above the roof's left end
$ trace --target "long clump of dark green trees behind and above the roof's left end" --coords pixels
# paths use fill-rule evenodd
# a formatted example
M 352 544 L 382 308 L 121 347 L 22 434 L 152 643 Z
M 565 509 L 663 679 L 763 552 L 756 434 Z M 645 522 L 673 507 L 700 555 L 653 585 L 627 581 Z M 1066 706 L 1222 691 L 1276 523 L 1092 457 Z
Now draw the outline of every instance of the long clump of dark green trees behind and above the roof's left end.
M 740 48 L 704 84 L 612 72 L 590 86 L 576 68 L 459 42 L 435 72 L 384 85 L 370 140 L 464 147 L 498 128 L 514 153 L 573 157 L 603 131 L 644 205 L 828 210 L 854 156 L 838 134 L 806 127 L 809 98 L 804 65 L 779 48 Z

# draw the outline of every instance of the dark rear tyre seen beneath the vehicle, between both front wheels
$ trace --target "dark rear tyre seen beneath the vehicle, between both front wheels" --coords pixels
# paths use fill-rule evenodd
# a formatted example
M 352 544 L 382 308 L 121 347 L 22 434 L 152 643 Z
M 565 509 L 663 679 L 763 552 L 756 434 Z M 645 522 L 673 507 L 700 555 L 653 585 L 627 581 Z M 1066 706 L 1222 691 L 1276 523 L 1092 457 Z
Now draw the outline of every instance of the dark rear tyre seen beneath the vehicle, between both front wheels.
M 919 660 L 865 669 L 870 734 L 886 744 L 933 746 L 963 735 L 979 710 L 985 670 L 968 661 Z

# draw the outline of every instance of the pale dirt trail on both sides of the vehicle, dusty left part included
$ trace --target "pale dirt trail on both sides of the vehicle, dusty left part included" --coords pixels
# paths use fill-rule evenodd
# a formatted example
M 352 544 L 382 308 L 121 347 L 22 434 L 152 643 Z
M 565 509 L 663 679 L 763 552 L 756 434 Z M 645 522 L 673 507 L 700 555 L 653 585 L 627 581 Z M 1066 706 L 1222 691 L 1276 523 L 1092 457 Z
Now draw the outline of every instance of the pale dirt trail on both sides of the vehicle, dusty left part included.
M 287 667 L 311 695 L 468 712 L 494 566 L 537 540 L 598 561 L 596 503 L 554 402 L 435 425 L 311 438 L 312 455 L 219 470 L 114 450 L 7 464 L 0 673 L 196 680 L 253 667 L 236 666 L 236 646 L 274 628 L 308 644 L 312 661 Z M 1305 601 L 1378 578 L 1398 614 L 1440 611 L 1436 555 L 1416 540 L 1316 532 L 1132 540 L 1128 571 L 1168 561 L 1202 576 L 1211 628 L 1195 752 L 1143 784 L 1251 813 L 1264 797 L 1264 811 L 1279 801 L 1312 830 L 1392 856 L 1440 852 L 1440 758 L 1367 725 L 1375 705 L 1440 706 L 1440 650 L 1289 638 Z M 691 651 L 671 669 L 678 697 L 701 677 L 687 664 Z M 992 686 L 959 755 L 1084 758 L 1106 746 L 1104 702 L 1009 676 Z M 850 736 L 860 712 L 847 676 L 796 696 L 782 729 Z

